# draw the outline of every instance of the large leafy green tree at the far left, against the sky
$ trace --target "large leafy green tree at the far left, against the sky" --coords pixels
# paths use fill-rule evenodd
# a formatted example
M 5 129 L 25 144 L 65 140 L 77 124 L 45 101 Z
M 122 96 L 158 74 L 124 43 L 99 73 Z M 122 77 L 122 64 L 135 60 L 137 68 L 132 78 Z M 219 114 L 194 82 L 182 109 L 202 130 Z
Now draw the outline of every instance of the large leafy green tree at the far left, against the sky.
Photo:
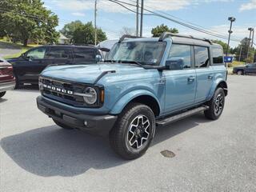
M 58 17 L 41 0 L 1 0 L 0 28 L 14 41 L 57 42 Z

